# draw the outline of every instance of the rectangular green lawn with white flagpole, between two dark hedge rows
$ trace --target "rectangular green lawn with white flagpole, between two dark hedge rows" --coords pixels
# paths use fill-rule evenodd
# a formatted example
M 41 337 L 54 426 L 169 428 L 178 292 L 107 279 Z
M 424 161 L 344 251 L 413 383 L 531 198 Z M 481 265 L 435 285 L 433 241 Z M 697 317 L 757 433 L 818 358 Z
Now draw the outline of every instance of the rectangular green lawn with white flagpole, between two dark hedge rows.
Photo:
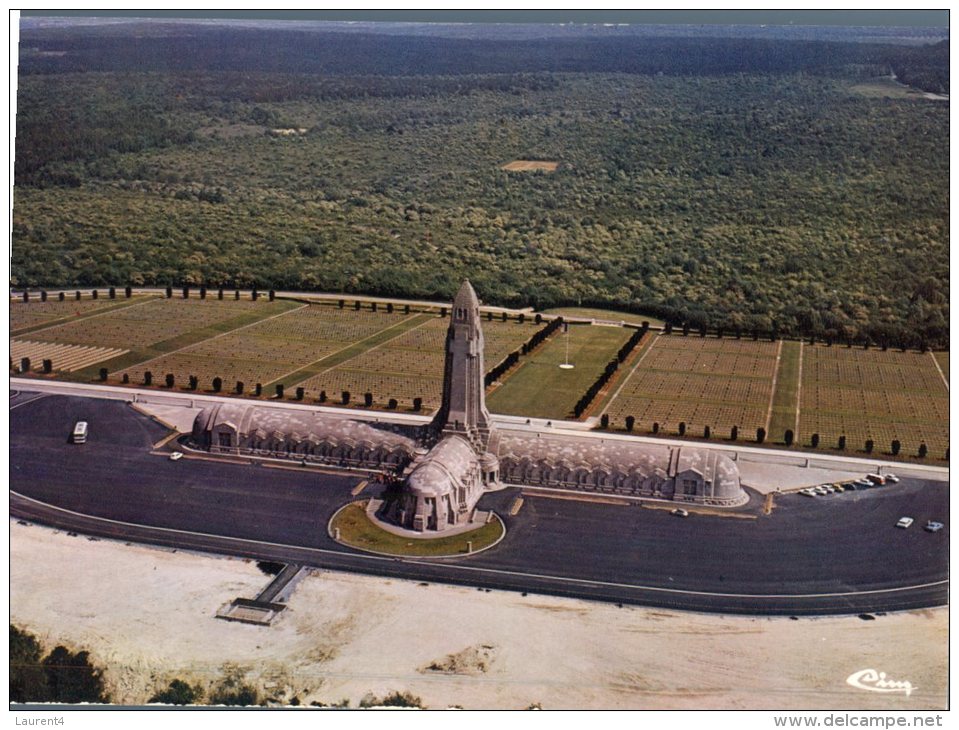
M 572 370 L 559 367 L 566 358 L 566 336 L 555 334 L 532 355 L 522 358 L 519 367 L 489 394 L 489 409 L 514 416 L 571 418 L 576 402 L 632 332 L 623 327 L 570 326 Z

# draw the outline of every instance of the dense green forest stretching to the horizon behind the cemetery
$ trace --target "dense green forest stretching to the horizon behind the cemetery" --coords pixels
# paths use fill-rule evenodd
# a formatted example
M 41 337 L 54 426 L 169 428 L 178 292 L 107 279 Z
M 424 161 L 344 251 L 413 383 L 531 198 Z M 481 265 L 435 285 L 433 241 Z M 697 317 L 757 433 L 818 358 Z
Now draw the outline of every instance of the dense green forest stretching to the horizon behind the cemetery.
M 890 80 L 948 91 L 947 43 L 31 33 L 15 286 L 469 276 L 490 303 L 948 342 L 948 104 Z

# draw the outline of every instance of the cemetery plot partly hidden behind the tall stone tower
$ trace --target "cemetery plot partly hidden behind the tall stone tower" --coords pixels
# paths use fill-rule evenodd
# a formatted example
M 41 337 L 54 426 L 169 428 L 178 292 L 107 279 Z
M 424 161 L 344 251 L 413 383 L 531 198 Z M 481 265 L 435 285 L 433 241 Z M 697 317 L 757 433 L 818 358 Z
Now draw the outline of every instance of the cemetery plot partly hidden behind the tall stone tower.
M 442 398 L 449 323 L 446 317 L 430 319 L 299 385 L 311 398 L 325 391 L 329 400 L 340 402 L 343 391 L 348 391 L 355 405 L 363 402 L 365 393 L 372 393 L 376 406 L 386 406 L 392 398 L 400 408 L 411 408 L 413 399 L 420 398 L 424 410 L 433 410 L 439 407 Z M 544 326 L 515 320 L 484 319 L 486 369 L 495 367 L 509 353 L 520 349 Z

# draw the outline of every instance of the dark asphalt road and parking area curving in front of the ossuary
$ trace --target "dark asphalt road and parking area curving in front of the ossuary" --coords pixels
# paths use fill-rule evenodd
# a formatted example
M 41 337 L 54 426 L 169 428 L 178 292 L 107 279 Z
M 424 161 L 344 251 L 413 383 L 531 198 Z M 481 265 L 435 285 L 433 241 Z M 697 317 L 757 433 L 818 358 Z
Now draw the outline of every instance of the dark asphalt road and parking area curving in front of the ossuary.
M 355 476 L 151 455 L 165 429 L 123 403 L 28 393 L 11 399 L 11 512 L 92 534 L 415 580 L 748 613 L 859 613 L 947 600 L 947 485 L 818 499 L 781 496 L 769 516 L 691 515 L 517 490 L 486 495 L 507 523 L 462 560 L 382 558 L 326 533 Z M 89 442 L 68 443 L 74 420 Z M 71 512 L 65 512 L 70 510 Z M 894 525 L 909 515 L 908 530 Z M 125 524 L 118 524 L 118 522 Z

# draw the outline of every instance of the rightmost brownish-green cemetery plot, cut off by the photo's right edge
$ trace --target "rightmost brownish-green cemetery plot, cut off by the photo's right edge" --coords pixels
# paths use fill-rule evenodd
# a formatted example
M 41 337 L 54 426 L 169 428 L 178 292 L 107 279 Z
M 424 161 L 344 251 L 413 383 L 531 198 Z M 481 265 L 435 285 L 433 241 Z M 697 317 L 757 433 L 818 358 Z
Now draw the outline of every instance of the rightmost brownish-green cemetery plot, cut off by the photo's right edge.
M 929 354 L 803 348 L 800 430 L 803 443 L 819 434 L 820 443 L 888 453 L 898 440 L 904 455 L 925 442 L 929 455 L 941 458 L 949 444 L 949 391 Z

